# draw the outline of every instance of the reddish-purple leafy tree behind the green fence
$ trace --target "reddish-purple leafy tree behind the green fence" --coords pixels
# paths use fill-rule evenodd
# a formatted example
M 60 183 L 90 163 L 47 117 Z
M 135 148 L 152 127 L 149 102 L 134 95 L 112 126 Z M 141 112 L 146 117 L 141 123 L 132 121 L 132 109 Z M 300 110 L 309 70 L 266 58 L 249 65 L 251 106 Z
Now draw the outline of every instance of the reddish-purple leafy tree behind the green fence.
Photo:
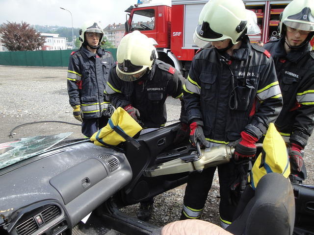
M 37 50 L 45 43 L 46 37 L 40 36 L 33 27 L 26 22 L 2 24 L 0 27 L 3 46 L 8 50 Z

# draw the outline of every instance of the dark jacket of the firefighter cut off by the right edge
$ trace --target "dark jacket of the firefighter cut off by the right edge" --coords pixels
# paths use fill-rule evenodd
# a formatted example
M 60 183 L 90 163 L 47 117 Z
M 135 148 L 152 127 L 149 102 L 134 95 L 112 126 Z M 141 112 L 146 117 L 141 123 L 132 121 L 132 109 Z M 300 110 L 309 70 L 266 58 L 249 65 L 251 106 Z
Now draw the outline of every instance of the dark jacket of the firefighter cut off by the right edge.
M 305 45 L 287 54 L 284 43 L 277 39 L 264 46 L 274 59 L 284 100 L 275 125 L 286 142 L 304 147 L 314 127 L 314 52 Z

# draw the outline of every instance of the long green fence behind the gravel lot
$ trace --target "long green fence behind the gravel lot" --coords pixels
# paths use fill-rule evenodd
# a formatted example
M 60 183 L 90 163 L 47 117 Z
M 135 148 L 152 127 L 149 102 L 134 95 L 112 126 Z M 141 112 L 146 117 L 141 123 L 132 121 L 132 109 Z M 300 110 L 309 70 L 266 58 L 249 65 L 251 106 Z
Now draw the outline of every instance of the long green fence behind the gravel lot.
M 116 60 L 117 49 L 106 48 Z M 68 67 L 73 50 L 1 51 L 0 65 Z

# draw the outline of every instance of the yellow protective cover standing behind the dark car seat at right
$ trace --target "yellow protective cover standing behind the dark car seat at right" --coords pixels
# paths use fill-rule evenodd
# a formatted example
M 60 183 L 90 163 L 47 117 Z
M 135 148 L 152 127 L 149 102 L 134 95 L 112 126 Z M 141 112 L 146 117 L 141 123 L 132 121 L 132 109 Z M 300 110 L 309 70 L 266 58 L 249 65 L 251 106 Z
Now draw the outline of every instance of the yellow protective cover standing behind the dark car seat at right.
M 249 182 L 255 189 L 260 179 L 267 173 L 277 172 L 288 178 L 290 174 L 290 164 L 286 143 L 276 130 L 274 123 L 270 123 L 265 139 L 263 141 L 263 152 L 256 159 Z

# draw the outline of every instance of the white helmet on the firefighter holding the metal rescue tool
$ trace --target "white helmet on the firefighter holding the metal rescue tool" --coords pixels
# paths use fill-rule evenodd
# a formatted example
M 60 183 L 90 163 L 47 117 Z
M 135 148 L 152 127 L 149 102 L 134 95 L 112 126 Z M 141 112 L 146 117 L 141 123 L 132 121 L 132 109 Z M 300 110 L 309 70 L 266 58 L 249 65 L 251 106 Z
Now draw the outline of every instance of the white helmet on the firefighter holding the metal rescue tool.
M 242 0 L 209 0 L 200 13 L 193 40 L 203 48 L 225 39 L 236 44 L 246 27 L 247 13 Z

